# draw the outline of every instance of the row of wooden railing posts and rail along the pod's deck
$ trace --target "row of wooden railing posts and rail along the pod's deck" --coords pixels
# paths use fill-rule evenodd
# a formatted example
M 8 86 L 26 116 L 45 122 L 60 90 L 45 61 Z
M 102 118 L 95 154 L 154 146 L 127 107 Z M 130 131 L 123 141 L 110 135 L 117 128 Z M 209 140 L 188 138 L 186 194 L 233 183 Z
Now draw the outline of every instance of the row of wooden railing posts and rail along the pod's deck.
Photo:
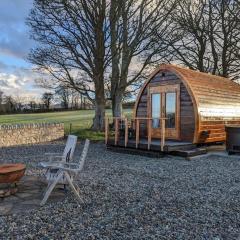
M 166 138 L 166 127 L 165 127 L 165 122 L 167 118 L 154 118 L 158 119 L 161 123 L 161 151 L 164 151 L 164 146 L 165 146 L 165 138 Z M 113 124 L 114 124 L 114 144 L 118 145 L 119 142 L 119 123 L 124 123 L 125 128 L 124 128 L 124 146 L 127 147 L 128 144 L 128 132 L 129 132 L 129 127 L 135 130 L 135 147 L 139 147 L 140 143 L 140 122 L 141 121 L 147 121 L 147 142 L 148 142 L 148 150 L 150 150 L 151 143 L 152 143 L 152 120 L 153 118 L 132 118 L 128 119 L 126 117 L 114 117 L 112 118 Z M 110 118 L 105 118 L 105 144 L 108 144 L 109 140 L 109 123 L 110 123 Z

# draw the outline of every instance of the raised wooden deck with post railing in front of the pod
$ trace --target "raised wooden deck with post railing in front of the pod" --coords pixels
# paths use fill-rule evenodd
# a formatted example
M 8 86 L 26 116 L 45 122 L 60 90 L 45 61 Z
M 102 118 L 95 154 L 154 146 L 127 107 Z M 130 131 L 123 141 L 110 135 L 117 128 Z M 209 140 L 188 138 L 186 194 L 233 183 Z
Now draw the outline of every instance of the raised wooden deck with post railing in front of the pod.
M 140 121 L 143 118 L 136 118 L 133 121 L 127 118 L 114 118 L 114 136 L 109 134 L 109 119 L 105 120 L 105 143 L 106 146 L 114 151 L 134 153 L 139 155 L 160 156 L 164 154 L 180 155 L 183 157 L 192 157 L 206 153 L 206 149 L 198 148 L 192 142 L 169 140 L 165 136 L 165 120 L 161 121 L 161 139 L 152 138 L 151 118 L 144 118 L 148 124 L 147 136 L 140 136 Z M 119 132 L 119 122 L 124 123 L 124 128 Z M 131 125 L 129 125 L 129 122 Z M 134 127 L 132 123 L 135 122 Z M 122 127 L 122 126 L 121 126 Z M 129 135 L 129 129 L 133 129 L 132 137 Z

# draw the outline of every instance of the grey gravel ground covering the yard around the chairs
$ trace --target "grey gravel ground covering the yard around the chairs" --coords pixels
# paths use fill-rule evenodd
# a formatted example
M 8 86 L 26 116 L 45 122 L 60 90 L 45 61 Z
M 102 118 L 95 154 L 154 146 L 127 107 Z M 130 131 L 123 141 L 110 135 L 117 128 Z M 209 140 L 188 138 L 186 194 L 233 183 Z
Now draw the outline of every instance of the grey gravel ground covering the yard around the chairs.
M 0 162 L 25 162 L 27 174 L 38 175 L 43 153 L 63 147 L 5 148 Z M 83 204 L 69 193 L 57 204 L 1 217 L 0 238 L 240 239 L 240 158 L 146 158 L 92 143 L 79 186 Z

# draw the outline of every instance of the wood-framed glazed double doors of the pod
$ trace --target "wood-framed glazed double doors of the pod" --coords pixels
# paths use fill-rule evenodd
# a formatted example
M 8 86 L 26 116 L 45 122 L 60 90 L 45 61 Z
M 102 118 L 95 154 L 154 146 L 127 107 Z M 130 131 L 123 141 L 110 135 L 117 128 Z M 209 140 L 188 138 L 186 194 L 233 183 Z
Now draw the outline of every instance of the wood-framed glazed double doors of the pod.
M 165 137 L 179 139 L 180 86 L 179 84 L 149 87 L 149 115 L 152 118 L 152 138 L 161 138 L 160 118 L 165 122 Z

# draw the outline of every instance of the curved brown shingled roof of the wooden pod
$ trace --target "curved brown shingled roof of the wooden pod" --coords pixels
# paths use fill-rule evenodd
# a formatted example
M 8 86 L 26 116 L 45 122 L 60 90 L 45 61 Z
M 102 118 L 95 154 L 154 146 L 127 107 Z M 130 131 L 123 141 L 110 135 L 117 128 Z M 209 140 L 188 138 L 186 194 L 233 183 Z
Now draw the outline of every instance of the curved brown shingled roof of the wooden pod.
M 201 120 L 240 118 L 239 84 L 228 78 L 202 73 L 176 65 L 162 64 L 151 74 L 149 80 L 145 82 L 142 91 L 161 70 L 171 71 L 183 81 L 197 108 L 195 114 L 198 114 Z

